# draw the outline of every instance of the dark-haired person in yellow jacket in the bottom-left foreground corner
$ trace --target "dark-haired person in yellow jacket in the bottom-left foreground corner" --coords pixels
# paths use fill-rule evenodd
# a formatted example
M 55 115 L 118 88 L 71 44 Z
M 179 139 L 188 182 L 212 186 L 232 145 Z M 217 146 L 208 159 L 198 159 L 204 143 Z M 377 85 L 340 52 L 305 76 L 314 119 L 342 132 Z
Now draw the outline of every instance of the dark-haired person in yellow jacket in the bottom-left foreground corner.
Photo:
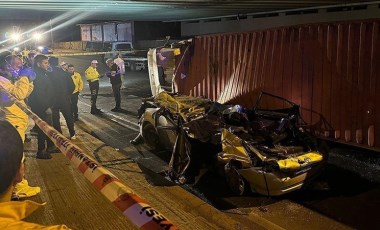
M 15 184 L 24 178 L 23 144 L 16 129 L 4 120 L 0 120 L 0 140 L 0 229 L 68 229 L 22 221 L 44 204 L 11 201 Z

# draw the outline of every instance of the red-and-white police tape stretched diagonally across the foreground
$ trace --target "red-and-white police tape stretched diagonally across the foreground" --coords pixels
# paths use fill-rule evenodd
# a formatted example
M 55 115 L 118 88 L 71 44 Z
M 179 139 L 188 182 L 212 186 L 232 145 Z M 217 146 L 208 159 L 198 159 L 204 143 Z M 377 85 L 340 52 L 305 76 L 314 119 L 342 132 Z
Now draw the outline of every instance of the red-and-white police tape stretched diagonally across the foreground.
M 0 91 L 6 93 L 10 100 L 20 107 L 37 126 L 53 141 L 55 146 L 70 160 L 92 185 L 112 202 L 135 226 L 140 229 L 178 229 L 146 201 L 125 186 L 115 175 L 101 166 L 96 160 L 83 153 L 57 130 L 41 120 L 23 103 L 19 102 L 0 85 Z

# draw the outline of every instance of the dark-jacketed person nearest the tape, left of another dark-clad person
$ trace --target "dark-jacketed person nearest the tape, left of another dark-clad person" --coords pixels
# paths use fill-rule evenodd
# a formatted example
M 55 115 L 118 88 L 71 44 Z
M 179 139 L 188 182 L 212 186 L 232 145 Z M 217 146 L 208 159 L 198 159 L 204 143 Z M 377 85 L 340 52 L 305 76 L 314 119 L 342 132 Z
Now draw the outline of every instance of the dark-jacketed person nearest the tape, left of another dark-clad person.
M 53 106 L 53 84 L 48 76 L 49 62 L 48 57 L 42 54 L 37 55 L 34 58 L 34 72 L 36 72 L 36 79 L 34 80 L 34 89 L 29 96 L 29 105 L 32 111 L 37 114 L 42 120 L 46 121 L 48 124 L 52 125 L 52 110 Z M 36 126 L 37 131 L 37 158 L 39 159 L 50 159 L 51 155 L 46 152 L 46 142 L 47 148 L 54 148 L 53 142 L 45 135 L 45 133 Z

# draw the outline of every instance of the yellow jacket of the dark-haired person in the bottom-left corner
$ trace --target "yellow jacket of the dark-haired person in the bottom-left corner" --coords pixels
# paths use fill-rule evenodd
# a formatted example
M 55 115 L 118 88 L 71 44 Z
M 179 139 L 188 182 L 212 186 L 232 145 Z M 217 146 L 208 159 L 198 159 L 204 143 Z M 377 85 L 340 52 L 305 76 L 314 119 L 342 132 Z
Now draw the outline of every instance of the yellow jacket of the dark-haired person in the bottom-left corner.
M 45 205 L 30 200 L 8 201 L 0 203 L 0 229 L 69 229 L 66 225 L 43 226 L 35 223 L 25 222 L 22 219 L 28 217 L 39 207 Z

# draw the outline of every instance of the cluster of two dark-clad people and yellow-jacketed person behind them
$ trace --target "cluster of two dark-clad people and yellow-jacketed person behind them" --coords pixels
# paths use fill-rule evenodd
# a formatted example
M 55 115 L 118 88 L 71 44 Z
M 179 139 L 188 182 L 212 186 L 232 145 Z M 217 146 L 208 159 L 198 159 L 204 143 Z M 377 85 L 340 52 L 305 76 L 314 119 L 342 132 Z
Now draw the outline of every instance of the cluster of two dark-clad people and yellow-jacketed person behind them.
M 70 73 L 67 63 L 58 64 L 58 58 L 48 58 L 45 55 L 37 55 L 34 58 L 34 71 L 36 73 L 34 90 L 28 99 L 32 111 L 61 133 L 60 113 L 62 113 L 70 139 L 76 139 L 74 121 L 78 119 L 78 109 L 77 104 L 74 105 L 72 102 L 77 103 L 77 95 L 83 90 L 83 81 L 77 76 L 79 73 L 75 75 Z M 76 110 L 72 109 L 74 107 Z M 50 153 L 56 152 L 57 148 L 41 129 L 36 127 L 36 131 L 37 158 L 50 159 Z

